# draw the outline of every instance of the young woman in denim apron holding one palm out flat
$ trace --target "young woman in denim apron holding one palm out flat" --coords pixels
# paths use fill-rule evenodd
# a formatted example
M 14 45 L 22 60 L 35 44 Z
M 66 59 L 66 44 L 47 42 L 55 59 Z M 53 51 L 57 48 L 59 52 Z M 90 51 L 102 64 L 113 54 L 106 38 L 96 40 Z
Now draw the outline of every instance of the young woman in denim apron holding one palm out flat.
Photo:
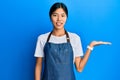
M 49 16 L 53 24 L 51 32 L 38 37 L 35 57 L 35 80 L 76 80 L 73 64 L 77 71 L 81 72 L 90 56 L 93 47 L 101 44 L 110 44 L 103 41 L 92 41 L 87 46 L 83 58 L 80 37 L 64 28 L 68 17 L 65 4 L 55 3 L 50 8 Z M 42 72 L 42 61 L 44 61 L 44 72 Z

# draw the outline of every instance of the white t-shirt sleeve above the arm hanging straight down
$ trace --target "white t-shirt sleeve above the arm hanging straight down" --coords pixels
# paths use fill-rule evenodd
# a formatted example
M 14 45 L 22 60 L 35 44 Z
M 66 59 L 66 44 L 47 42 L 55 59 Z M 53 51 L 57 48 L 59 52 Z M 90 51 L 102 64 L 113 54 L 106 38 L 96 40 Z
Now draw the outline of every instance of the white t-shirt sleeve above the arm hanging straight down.
M 36 44 L 36 49 L 34 54 L 35 57 L 44 57 L 43 47 L 44 47 L 44 43 L 40 36 L 38 37 L 37 44 Z

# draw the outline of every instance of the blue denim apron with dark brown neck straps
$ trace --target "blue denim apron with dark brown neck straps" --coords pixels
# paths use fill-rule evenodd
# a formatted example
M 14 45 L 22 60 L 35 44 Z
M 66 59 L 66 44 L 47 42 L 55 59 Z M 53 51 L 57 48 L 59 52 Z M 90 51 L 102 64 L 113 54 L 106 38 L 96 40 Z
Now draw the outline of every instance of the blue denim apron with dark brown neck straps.
M 66 43 L 56 44 L 49 42 L 49 34 L 44 47 L 44 72 L 42 80 L 75 80 L 73 70 L 73 50 L 68 33 Z

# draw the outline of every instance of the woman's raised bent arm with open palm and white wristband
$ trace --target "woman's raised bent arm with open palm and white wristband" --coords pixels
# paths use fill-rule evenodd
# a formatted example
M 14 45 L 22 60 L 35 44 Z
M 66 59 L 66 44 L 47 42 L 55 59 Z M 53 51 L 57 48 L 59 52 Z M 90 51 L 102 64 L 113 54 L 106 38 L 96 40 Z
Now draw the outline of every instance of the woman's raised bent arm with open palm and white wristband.
M 90 56 L 92 48 L 94 46 L 101 45 L 101 44 L 111 44 L 111 43 L 110 42 L 103 42 L 103 41 L 93 41 L 90 43 L 89 48 L 87 49 L 83 58 L 81 58 L 81 57 L 75 58 L 75 65 L 76 65 L 77 71 L 82 72 L 82 70 L 83 70 L 83 68 L 84 68 L 84 66 L 85 66 L 85 64 Z

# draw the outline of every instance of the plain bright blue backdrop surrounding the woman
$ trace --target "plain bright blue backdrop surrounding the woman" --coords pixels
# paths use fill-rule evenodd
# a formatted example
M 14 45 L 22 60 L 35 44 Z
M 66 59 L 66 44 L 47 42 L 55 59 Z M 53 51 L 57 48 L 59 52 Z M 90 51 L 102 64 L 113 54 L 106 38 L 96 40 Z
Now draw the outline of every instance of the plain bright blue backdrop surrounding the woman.
M 65 28 L 81 37 L 84 53 L 93 40 L 112 42 L 94 48 L 77 80 L 120 80 L 119 0 L 1 0 L 0 80 L 34 80 L 37 37 L 52 30 L 48 12 L 57 1 L 67 5 Z

